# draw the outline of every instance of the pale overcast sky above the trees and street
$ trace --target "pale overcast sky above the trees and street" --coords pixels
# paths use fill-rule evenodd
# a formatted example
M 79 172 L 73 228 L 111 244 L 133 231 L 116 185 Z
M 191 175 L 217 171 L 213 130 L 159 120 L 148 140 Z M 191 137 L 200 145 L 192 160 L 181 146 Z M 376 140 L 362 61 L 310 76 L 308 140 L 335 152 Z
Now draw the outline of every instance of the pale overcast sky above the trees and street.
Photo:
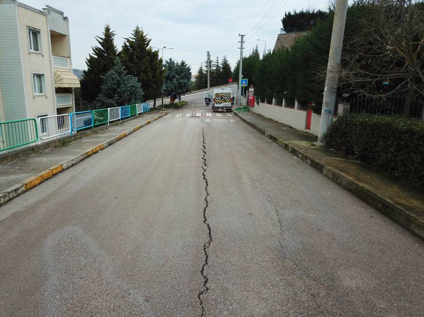
M 260 52 L 274 47 L 285 11 L 314 8 L 325 9 L 328 0 L 21 0 L 42 9 L 45 4 L 63 11 L 69 18 L 72 64 L 85 69 L 85 58 L 96 45 L 95 35 L 101 35 L 109 23 L 116 31 L 120 49 L 123 37 L 131 35 L 135 25 L 152 38 L 151 45 L 173 47 L 165 50 L 164 59 L 172 57 L 192 65 L 194 74 L 206 59 L 226 55 L 231 68 L 240 51 L 238 34 L 246 35 L 245 55 L 257 44 Z

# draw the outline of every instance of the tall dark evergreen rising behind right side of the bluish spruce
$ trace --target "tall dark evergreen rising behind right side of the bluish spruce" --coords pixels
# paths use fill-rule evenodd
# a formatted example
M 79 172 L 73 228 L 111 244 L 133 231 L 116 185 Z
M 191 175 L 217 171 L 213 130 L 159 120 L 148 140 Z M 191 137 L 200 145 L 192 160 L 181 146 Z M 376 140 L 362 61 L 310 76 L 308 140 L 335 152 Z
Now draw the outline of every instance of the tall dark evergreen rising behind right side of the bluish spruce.
M 137 25 L 130 37 L 124 39 L 119 57 L 128 74 L 137 78 L 145 96 L 151 98 L 155 89 L 149 52 L 151 39 Z

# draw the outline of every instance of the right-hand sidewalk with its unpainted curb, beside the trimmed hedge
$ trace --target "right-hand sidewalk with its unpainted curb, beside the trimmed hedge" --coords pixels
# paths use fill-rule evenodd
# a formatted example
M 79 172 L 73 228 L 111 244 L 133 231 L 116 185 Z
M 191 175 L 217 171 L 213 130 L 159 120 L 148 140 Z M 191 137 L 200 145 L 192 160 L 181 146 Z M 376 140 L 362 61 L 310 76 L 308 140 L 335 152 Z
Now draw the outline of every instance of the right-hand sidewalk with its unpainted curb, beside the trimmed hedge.
M 424 238 L 424 194 L 365 164 L 311 145 L 317 138 L 253 112 L 234 112 L 242 121 L 322 172 L 406 229 Z

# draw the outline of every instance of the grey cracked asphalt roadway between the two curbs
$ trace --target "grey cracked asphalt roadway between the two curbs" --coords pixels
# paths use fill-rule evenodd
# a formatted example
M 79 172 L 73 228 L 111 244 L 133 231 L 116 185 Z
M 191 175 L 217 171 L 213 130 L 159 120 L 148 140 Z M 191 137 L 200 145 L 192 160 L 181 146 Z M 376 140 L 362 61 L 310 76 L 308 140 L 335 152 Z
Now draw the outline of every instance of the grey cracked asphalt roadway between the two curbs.
M 424 315 L 422 241 L 236 118 L 164 117 L 0 219 L 0 316 Z

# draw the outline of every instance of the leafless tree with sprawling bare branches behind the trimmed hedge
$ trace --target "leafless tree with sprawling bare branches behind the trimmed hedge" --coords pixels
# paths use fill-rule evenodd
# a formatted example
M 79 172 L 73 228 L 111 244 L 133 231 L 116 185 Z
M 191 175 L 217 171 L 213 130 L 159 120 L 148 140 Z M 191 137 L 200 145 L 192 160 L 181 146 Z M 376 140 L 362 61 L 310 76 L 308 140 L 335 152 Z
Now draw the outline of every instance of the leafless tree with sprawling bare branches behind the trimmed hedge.
M 345 36 L 340 84 L 363 97 L 405 96 L 404 116 L 424 92 L 424 2 L 358 0 Z

